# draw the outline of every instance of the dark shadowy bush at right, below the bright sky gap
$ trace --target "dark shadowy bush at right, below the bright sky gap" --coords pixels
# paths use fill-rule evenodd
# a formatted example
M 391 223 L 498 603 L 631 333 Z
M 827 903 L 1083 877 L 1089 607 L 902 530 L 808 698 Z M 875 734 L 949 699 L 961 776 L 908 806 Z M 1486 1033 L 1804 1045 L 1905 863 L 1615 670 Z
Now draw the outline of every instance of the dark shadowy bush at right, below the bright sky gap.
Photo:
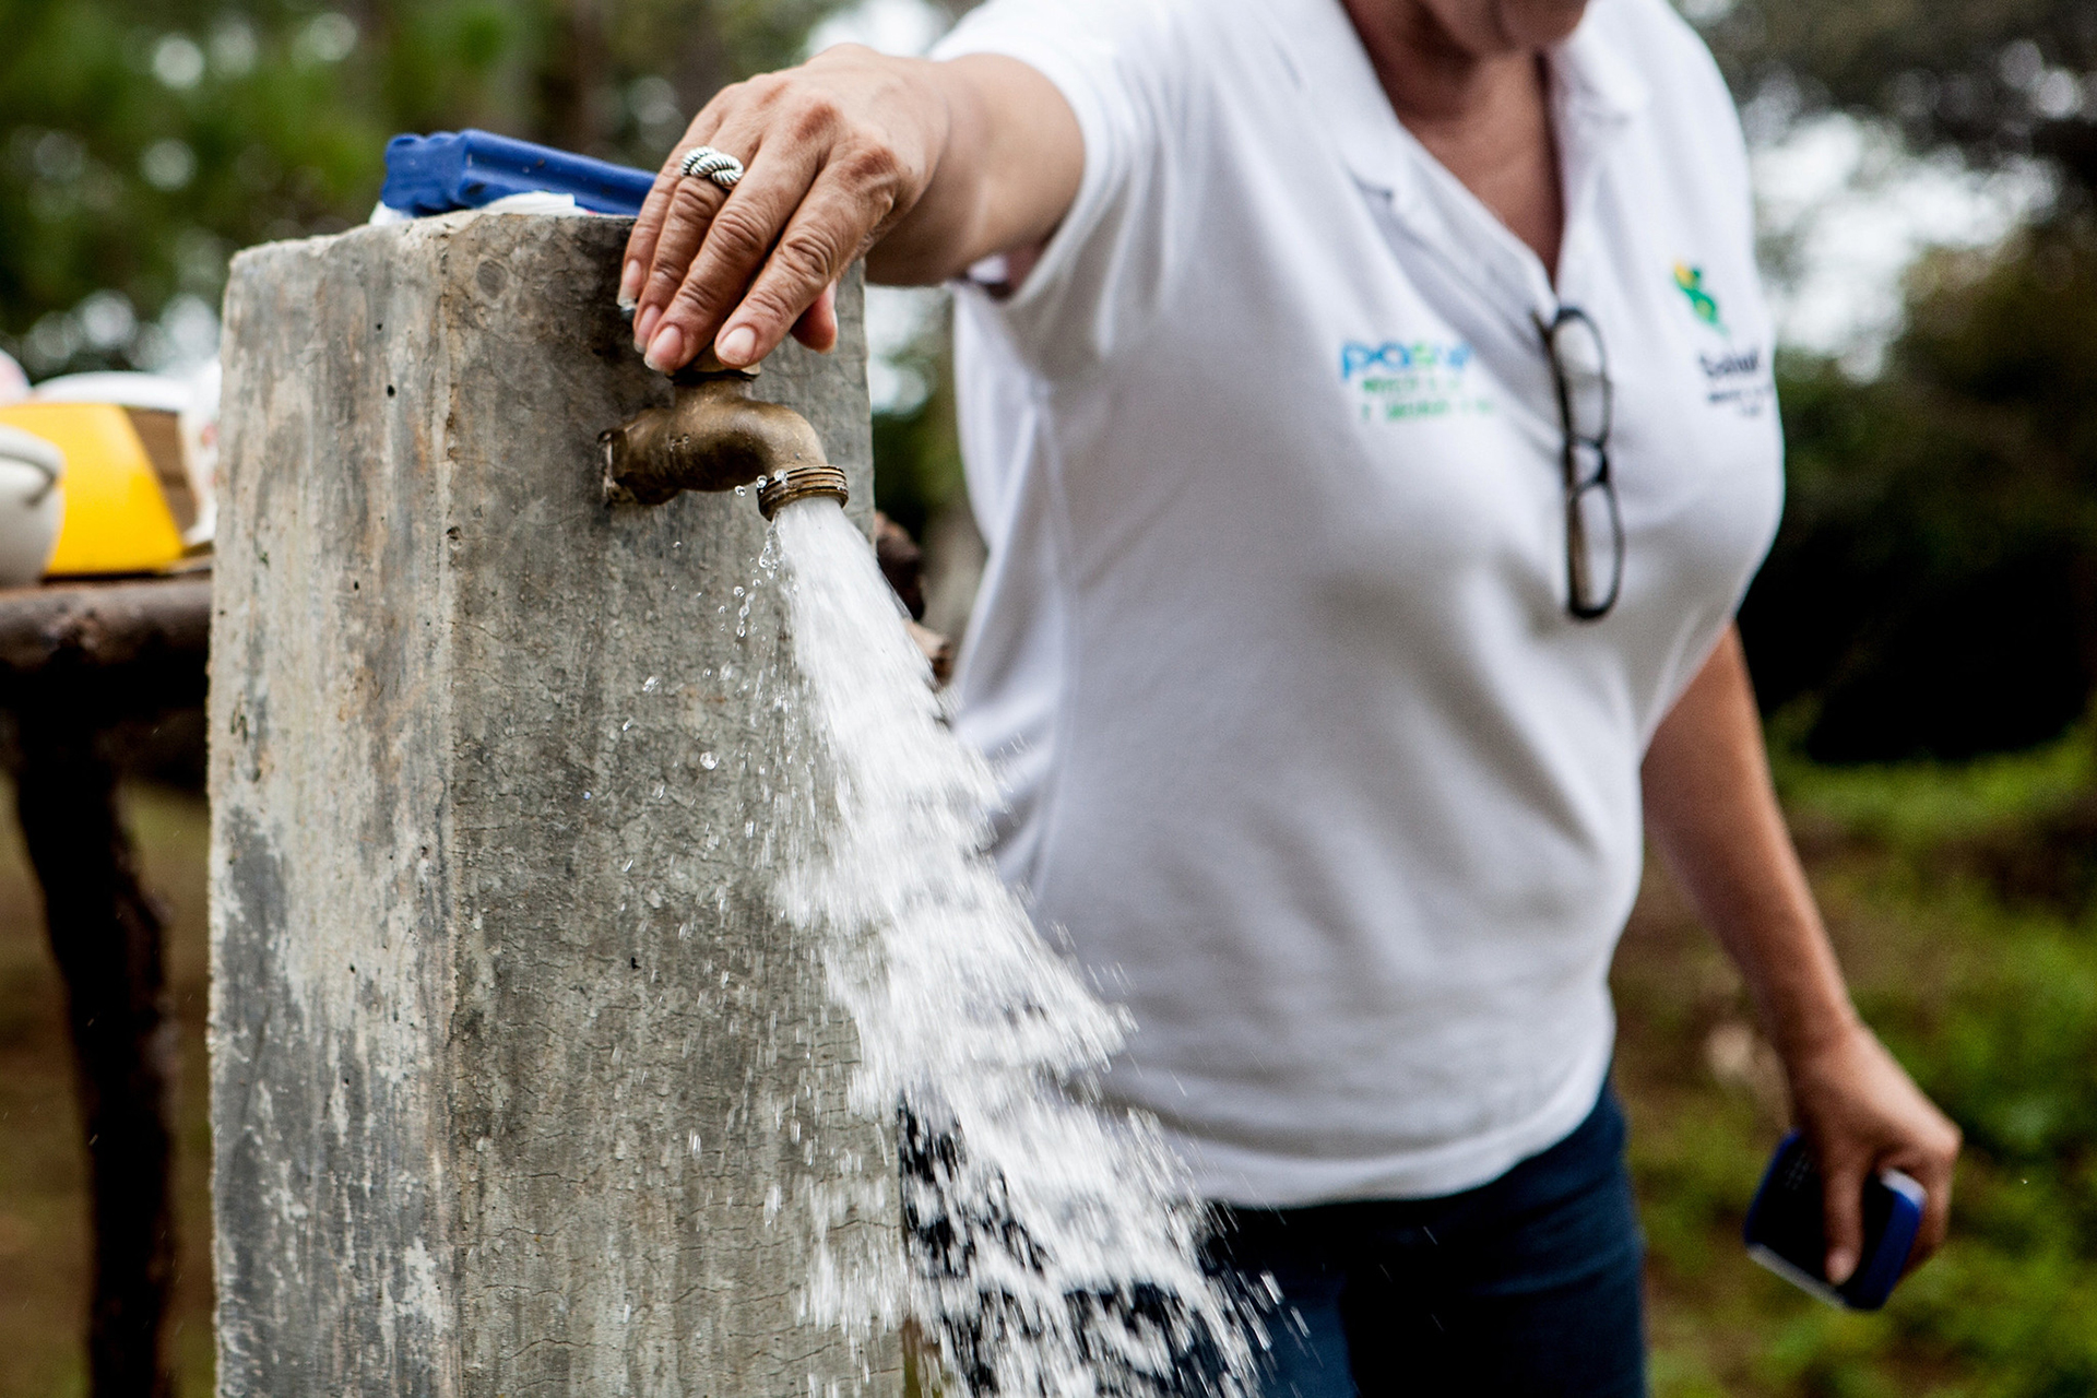
M 2097 685 L 2097 228 L 1910 285 L 1877 381 L 1782 365 L 1791 501 L 1741 627 L 1820 759 L 2030 746 Z

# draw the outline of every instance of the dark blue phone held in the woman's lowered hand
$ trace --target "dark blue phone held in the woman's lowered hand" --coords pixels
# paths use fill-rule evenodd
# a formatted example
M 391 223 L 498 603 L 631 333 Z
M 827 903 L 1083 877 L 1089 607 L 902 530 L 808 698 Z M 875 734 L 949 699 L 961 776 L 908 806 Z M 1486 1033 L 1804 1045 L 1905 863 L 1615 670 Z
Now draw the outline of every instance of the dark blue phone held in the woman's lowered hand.
M 1822 1302 L 1879 1310 L 1894 1293 L 1908 1249 L 1923 1224 L 1923 1186 L 1898 1170 L 1864 1182 L 1864 1253 L 1843 1285 L 1826 1279 L 1826 1232 L 1820 1216 L 1820 1170 L 1806 1138 L 1791 1132 L 1776 1144 L 1770 1167 L 1747 1207 L 1747 1255 Z

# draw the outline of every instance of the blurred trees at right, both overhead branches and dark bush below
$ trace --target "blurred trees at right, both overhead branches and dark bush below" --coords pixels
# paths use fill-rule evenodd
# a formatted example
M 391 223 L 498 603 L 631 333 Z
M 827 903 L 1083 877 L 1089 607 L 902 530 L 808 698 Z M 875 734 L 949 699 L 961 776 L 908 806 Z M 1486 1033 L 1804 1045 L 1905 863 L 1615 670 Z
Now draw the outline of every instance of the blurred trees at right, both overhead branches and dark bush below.
M 1682 4 L 1764 136 L 1841 109 L 2053 172 L 2036 226 L 1917 268 L 1875 381 L 1780 365 L 1791 503 L 1743 610 L 1816 757 L 2053 738 L 2097 685 L 2097 6 Z

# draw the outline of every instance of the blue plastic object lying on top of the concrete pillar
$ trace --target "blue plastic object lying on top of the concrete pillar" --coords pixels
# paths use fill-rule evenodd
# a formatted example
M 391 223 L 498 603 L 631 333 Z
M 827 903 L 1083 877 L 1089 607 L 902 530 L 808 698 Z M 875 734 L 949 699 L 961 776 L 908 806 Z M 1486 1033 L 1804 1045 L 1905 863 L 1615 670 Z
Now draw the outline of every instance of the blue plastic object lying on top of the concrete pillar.
M 652 184 L 654 176 L 646 170 L 463 130 L 388 140 L 380 203 L 415 216 L 449 214 L 543 189 L 575 195 L 593 214 L 631 216 L 642 212 Z

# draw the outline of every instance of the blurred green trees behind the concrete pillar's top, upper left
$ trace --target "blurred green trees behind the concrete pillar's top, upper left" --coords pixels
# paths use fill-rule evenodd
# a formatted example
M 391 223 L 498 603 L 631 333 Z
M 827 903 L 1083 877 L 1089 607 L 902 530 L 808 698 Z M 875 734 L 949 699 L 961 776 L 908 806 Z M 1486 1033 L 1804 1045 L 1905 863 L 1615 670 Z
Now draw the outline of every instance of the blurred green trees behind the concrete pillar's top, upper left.
M 0 348 L 38 375 L 174 356 L 233 249 L 363 220 L 403 130 L 654 166 L 839 4 L 0 0 Z

